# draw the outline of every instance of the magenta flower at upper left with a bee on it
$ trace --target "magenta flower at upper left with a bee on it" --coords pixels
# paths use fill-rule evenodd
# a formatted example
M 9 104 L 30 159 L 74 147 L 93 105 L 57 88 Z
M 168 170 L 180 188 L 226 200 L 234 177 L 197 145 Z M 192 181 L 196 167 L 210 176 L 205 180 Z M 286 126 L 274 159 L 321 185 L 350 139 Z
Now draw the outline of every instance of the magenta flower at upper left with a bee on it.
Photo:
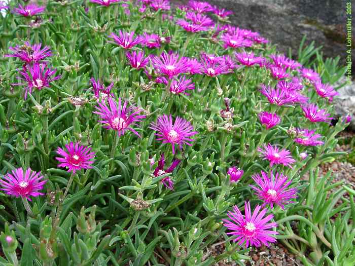
M 49 46 L 45 46 L 41 50 L 42 44 L 34 44 L 31 46 L 29 42 L 25 42 L 24 45 L 16 45 L 15 47 L 10 47 L 9 49 L 13 51 L 13 54 L 5 55 L 6 57 L 17 57 L 26 63 L 38 62 L 45 59 L 48 56 L 52 56 Z

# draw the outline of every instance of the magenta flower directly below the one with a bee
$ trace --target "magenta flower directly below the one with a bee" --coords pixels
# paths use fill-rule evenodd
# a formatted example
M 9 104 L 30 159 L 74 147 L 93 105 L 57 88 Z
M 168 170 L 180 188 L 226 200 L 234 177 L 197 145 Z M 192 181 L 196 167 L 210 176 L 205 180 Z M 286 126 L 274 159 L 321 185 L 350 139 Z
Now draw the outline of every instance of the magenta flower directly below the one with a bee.
M 27 69 L 28 67 L 28 69 Z M 32 93 L 32 90 L 38 89 L 42 90 L 45 87 L 49 87 L 49 83 L 52 81 L 60 79 L 60 75 L 55 75 L 57 69 L 47 68 L 45 64 L 34 63 L 33 65 L 23 66 L 23 71 L 19 71 L 22 75 L 22 80 L 26 83 L 16 83 L 14 85 L 25 85 L 25 96 L 27 98 L 27 93 Z M 29 73 L 28 73 L 29 72 Z

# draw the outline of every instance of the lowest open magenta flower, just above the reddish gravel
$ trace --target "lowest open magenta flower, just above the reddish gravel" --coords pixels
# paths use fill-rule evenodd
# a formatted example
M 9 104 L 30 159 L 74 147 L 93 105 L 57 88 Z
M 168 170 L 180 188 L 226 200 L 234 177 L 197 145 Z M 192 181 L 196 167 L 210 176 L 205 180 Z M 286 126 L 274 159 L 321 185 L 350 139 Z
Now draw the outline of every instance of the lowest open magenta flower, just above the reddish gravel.
M 235 239 L 233 242 L 238 241 L 238 245 L 242 246 L 255 246 L 260 247 L 262 244 L 269 246 L 270 243 L 275 243 L 276 239 L 273 235 L 277 235 L 278 232 L 271 231 L 269 229 L 276 227 L 277 223 L 269 222 L 273 215 L 269 214 L 266 217 L 265 214 L 267 209 L 261 209 L 261 206 L 257 205 L 254 212 L 252 213 L 250 208 L 250 202 L 245 202 L 244 205 L 245 216 L 241 214 L 239 208 L 235 205 L 233 207 L 234 211 L 229 211 L 227 213 L 231 220 L 223 219 L 224 226 L 231 232 L 227 235 L 234 235 Z

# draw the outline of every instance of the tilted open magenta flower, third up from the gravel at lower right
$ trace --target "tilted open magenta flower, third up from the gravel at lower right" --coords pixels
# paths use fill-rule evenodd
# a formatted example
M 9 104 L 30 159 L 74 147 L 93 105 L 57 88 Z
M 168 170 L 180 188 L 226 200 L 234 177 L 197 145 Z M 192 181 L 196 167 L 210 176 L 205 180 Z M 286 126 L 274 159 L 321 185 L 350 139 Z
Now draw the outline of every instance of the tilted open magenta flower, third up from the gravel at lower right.
M 292 168 L 291 164 L 296 162 L 290 155 L 290 151 L 287 149 L 279 149 L 277 146 L 272 146 L 270 143 L 263 147 L 264 149 L 259 147 L 258 151 L 264 156 L 264 160 L 270 162 L 270 168 L 274 164 L 282 164 Z

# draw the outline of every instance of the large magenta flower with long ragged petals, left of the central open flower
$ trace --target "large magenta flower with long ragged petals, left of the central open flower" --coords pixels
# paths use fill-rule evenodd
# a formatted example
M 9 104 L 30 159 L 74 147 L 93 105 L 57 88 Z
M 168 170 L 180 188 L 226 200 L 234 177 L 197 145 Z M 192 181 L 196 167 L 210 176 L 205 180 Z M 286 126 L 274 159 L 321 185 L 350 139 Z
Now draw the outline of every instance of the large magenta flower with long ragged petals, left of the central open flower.
M 132 125 L 137 126 L 136 122 L 140 122 L 145 118 L 145 116 L 138 115 L 141 109 L 131 113 L 130 109 L 127 109 L 126 101 L 122 106 L 121 98 L 118 98 L 118 104 L 111 97 L 108 99 L 108 102 L 109 106 L 104 101 L 98 102 L 98 106 L 95 106 L 97 111 L 94 111 L 102 119 L 99 122 L 104 124 L 103 128 L 116 130 L 119 136 L 130 130 L 140 137 L 138 132 L 132 128 Z

